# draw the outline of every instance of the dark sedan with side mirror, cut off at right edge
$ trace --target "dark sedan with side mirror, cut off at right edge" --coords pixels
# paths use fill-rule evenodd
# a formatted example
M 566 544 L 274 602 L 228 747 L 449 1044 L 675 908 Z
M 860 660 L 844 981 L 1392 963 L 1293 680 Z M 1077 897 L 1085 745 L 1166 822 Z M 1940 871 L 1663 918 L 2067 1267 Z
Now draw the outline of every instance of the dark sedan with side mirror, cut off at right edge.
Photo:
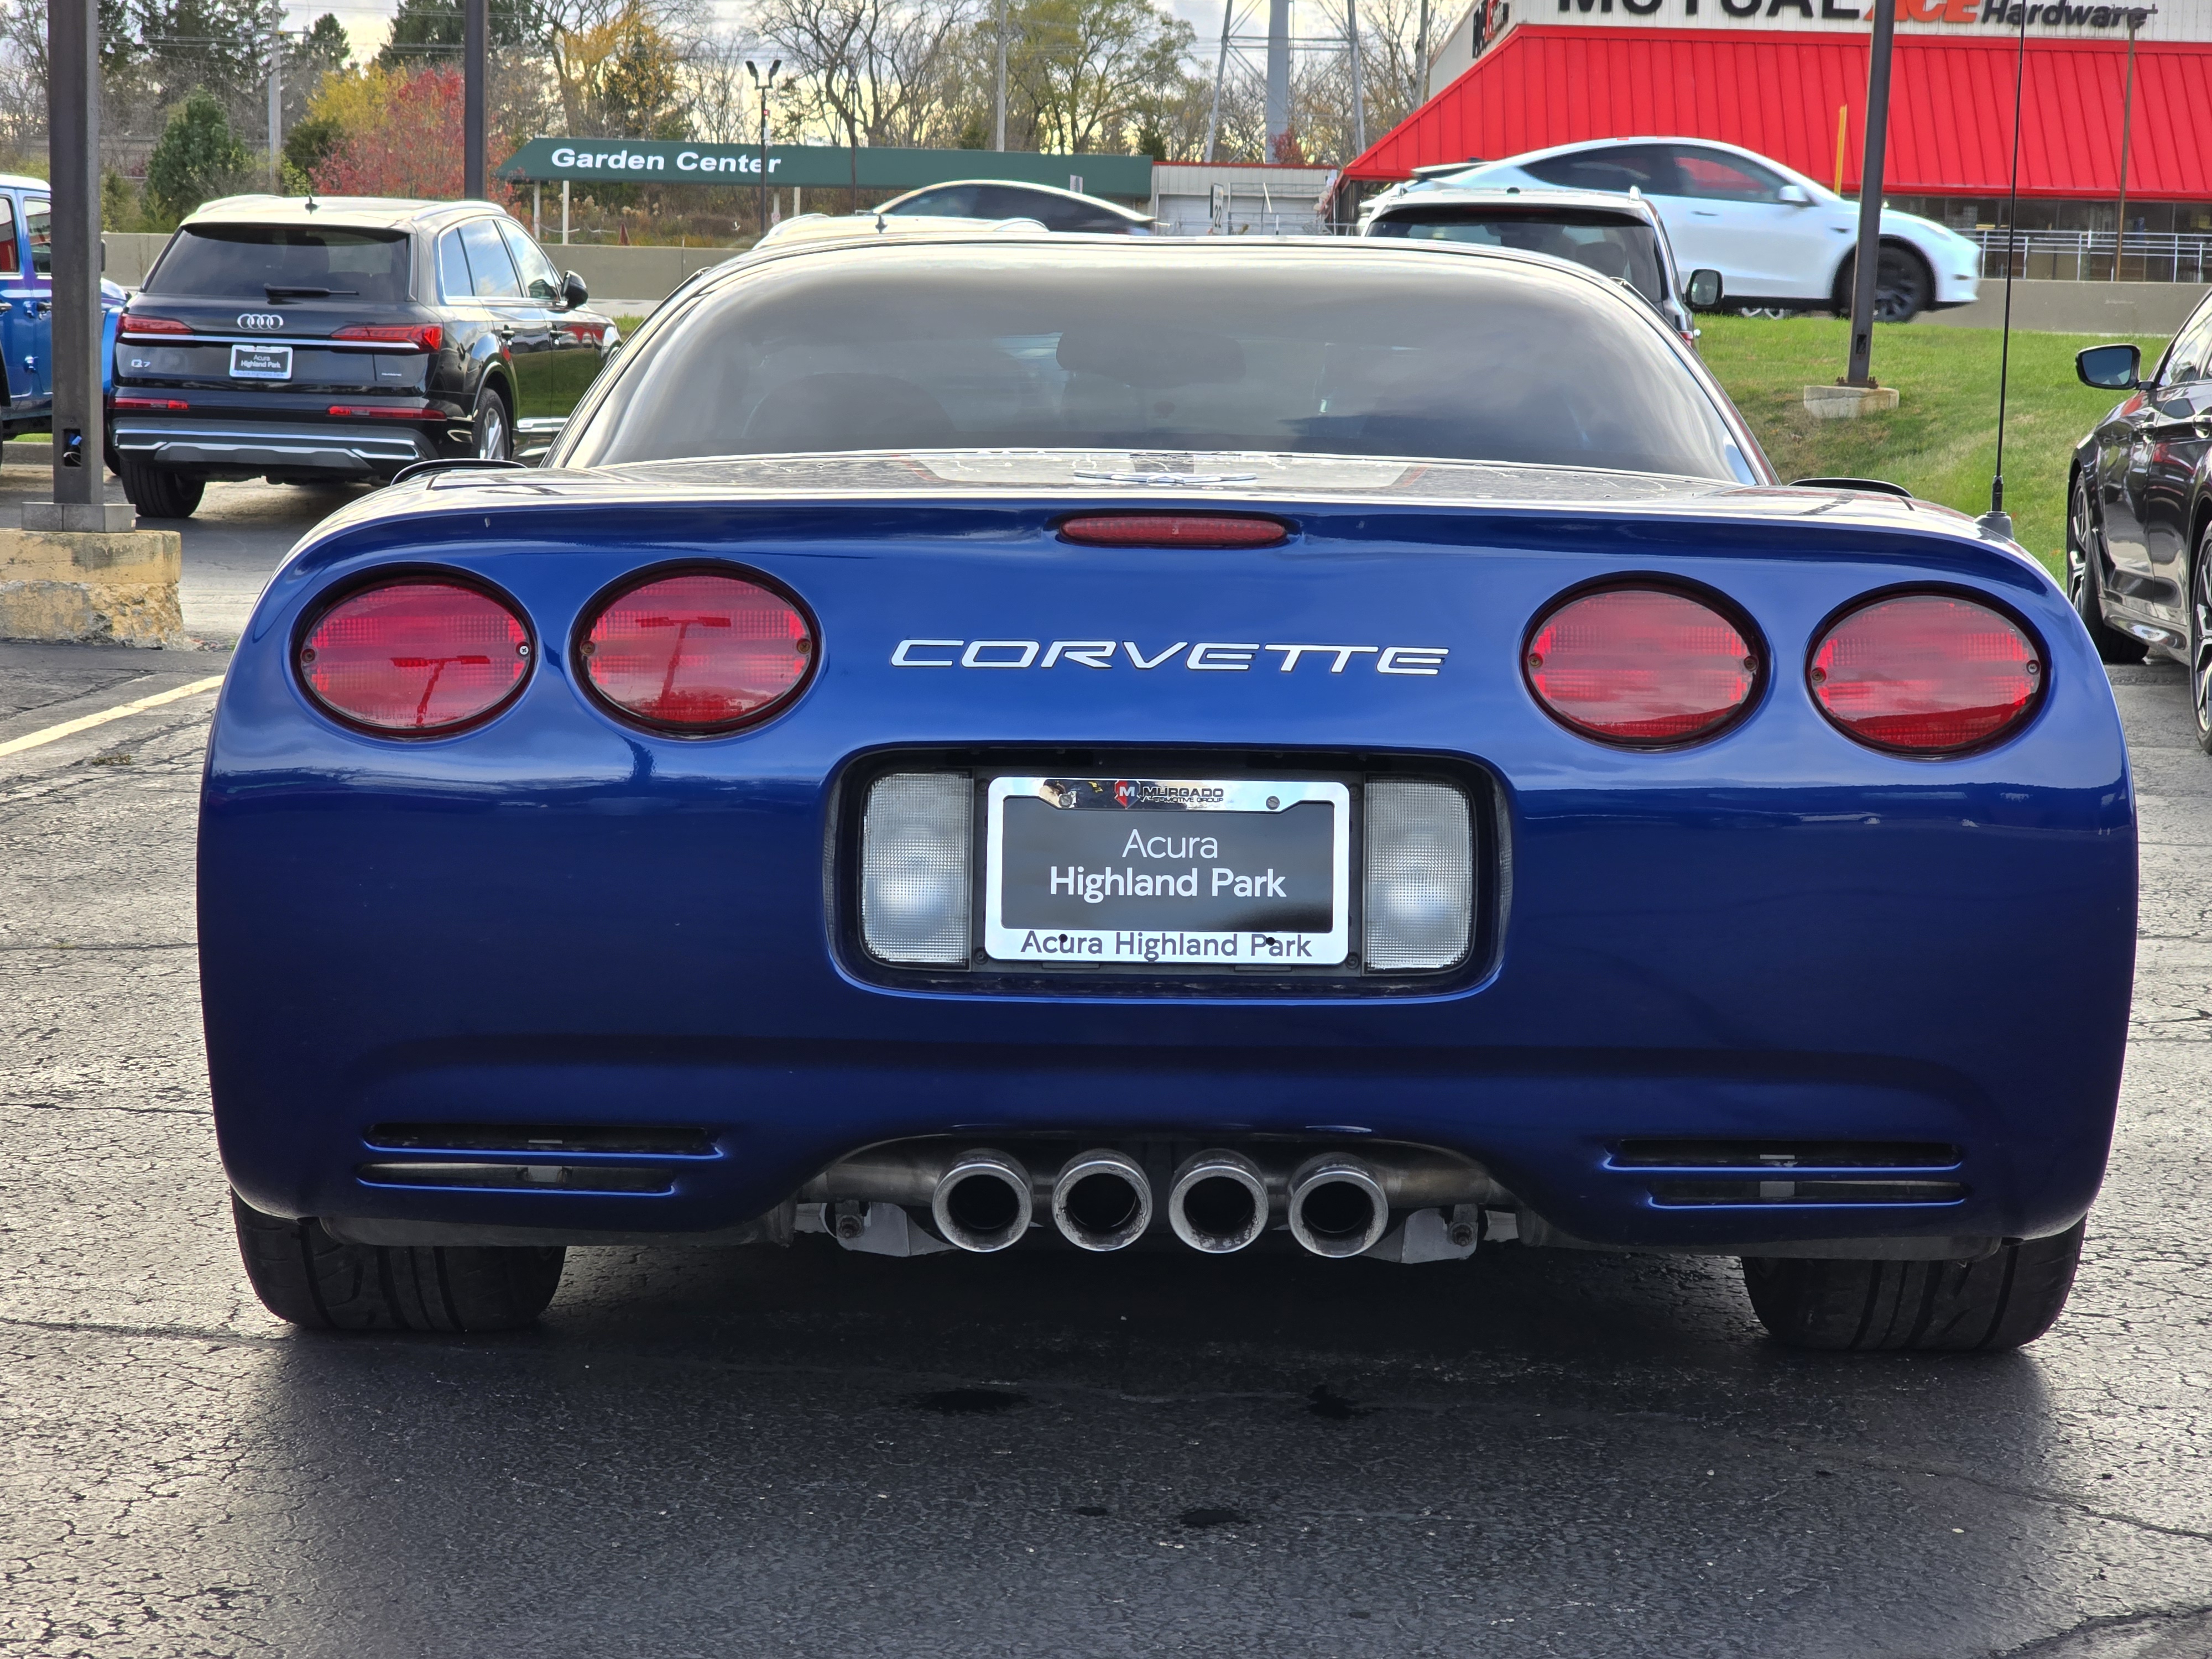
M 2128 396 L 2075 447 L 2066 591 L 2106 661 L 2188 664 L 2212 752 L 2212 299 L 2148 376 L 2135 345 L 2093 345 L 2075 369 Z

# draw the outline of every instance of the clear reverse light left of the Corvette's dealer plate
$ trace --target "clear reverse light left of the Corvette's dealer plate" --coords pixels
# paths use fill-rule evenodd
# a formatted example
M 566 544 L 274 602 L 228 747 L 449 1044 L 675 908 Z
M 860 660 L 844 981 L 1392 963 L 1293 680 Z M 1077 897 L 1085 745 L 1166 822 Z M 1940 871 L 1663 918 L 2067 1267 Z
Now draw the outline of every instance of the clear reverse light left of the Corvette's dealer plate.
M 964 772 L 894 772 L 867 790 L 860 821 L 860 938 L 885 962 L 969 960 L 969 834 L 975 787 Z

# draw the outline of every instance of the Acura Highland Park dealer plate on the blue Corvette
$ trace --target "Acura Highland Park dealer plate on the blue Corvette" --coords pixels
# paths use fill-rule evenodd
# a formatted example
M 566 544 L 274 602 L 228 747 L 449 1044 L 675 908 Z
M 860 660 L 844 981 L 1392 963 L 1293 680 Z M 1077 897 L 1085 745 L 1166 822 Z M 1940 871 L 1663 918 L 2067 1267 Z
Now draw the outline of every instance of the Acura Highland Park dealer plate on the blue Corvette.
M 1245 779 L 993 779 L 984 953 L 1000 962 L 1334 967 L 1352 792 Z

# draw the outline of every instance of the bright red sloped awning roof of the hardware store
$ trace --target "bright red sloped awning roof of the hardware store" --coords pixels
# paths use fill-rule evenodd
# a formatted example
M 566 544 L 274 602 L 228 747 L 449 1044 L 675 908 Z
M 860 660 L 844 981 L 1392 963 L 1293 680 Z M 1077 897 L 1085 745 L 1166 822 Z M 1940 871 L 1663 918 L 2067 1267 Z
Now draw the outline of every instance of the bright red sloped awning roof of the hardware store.
M 2013 31 L 1896 42 L 1885 195 L 1991 197 L 2011 177 Z M 2119 188 L 2124 40 L 2028 31 L 2020 195 L 2106 197 Z M 1836 108 L 1847 115 L 1843 188 L 1858 188 L 1867 40 L 1705 29 L 1524 24 L 1385 133 L 1347 179 L 1495 161 L 1599 137 L 1708 137 L 1836 179 Z M 2137 42 L 2128 197 L 2212 201 L 2212 44 Z

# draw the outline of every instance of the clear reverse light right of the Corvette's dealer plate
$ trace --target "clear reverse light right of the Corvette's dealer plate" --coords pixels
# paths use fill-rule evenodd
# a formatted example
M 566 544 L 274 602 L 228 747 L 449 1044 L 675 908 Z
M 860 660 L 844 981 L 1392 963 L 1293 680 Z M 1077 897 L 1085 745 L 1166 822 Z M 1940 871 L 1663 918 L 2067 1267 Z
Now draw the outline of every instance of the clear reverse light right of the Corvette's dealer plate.
M 1440 969 L 1467 956 L 1475 838 L 1467 796 L 1425 779 L 1367 781 L 1369 969 Z

